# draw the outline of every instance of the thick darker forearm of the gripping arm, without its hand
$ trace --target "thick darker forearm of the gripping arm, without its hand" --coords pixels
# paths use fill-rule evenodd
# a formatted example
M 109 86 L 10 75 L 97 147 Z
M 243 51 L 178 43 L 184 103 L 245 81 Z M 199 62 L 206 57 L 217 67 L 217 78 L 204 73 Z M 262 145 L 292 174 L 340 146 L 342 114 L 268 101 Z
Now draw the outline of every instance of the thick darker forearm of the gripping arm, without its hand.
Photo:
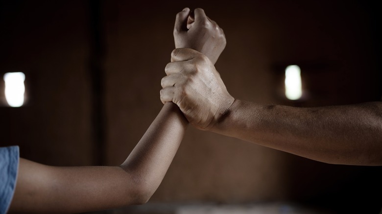
M 382 102 L 298 108 L 236 100 L 212 131 L 313 160 L 382 165 Z

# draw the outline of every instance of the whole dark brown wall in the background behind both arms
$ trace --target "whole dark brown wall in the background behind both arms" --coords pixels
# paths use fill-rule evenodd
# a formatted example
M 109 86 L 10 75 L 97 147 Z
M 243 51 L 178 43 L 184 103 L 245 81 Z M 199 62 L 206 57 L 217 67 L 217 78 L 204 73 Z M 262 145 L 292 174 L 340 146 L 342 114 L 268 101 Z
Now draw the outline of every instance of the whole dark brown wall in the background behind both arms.
M 54 166 L 121 164 L 163 105 L 160 80 L 184 7 L 203 8 L 223 28 L 215 66 L 238 99 L 380 100 L 376 2 L 0 0 L 0 75 L 26 76 L 19 108 L 7 107 L 0 80 L 0 146 Z M 289 64 L 302 69 L 299 102 L 283 96 Z M 381 175 L 381 167 L 325 164 L 190 127 L 149 203 L 287 201 L 371 214 L 381 211 Z

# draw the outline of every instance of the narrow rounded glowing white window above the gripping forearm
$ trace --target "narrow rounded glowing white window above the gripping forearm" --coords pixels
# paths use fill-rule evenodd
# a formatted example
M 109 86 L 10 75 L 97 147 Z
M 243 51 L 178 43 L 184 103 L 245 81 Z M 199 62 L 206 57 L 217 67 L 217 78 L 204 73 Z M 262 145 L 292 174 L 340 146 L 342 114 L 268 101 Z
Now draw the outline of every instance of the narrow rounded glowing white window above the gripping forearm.
M 285 69 L 285 96 L 289 100 L 298 100 L 302 96 L 301 70 L 297 65 Z

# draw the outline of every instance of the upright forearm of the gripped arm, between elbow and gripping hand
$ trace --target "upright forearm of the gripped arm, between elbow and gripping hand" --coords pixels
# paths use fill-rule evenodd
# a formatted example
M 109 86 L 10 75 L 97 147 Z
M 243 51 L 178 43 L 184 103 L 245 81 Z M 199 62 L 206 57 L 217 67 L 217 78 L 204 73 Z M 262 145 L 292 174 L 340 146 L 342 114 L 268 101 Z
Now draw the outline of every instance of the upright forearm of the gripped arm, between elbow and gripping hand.
M 156 191 L 171 164 L 188 126 L 179 107 L 166 103 L 121 167 L 148 200 Z

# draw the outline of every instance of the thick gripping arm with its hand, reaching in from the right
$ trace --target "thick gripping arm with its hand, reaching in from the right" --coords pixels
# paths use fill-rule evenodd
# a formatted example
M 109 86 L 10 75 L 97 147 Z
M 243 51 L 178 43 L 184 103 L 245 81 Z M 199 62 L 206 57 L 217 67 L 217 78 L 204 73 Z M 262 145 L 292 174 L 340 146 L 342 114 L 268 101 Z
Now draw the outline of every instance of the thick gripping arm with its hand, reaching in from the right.
M 161 100 L 178 105 L 196 128 L 325 163 L 382 166 L 382 102 L 301 108 L 242 101 L 200 52 L 177 48 L 171 61 Z

